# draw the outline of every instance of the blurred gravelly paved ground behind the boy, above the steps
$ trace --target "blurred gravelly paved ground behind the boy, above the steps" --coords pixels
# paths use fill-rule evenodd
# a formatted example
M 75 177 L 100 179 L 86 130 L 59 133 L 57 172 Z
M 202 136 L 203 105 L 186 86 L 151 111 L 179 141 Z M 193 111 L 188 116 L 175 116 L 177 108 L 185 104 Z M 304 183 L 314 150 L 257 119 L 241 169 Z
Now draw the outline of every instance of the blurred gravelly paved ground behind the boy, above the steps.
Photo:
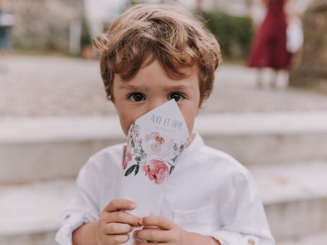
M 9 71 L 0 73 L 2 117 L 115 113 L 105 99 L 98 61 L 10 56 L 8 64 Z M 287 74 L 281 74 L 275 90 L 257 88 L 255 75 L 253 69 L 223 65 L 202 113 L 327 110 L 326 94 L 287 88 Z

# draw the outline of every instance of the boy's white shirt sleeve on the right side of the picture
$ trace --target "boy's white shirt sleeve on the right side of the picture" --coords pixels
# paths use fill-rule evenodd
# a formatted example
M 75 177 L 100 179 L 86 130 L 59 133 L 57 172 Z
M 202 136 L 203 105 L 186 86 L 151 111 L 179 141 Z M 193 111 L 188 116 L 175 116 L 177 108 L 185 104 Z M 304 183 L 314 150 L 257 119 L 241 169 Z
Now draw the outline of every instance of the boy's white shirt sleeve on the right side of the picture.
M 230 177 L 230 176 L 229 176 Z M 208 234 L 222 245 L 274 245 L 258 188 L 248 170 L 227 181 L 221 196 L 222 229 Z

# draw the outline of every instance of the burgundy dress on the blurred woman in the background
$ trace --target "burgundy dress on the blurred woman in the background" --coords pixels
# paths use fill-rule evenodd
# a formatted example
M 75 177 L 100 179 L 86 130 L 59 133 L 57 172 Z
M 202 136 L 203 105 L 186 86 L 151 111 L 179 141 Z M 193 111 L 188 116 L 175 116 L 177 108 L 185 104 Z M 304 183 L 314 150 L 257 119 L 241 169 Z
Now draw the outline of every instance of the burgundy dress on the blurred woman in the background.
M 252 43 L 249 67 L 287 69 L 285 0 L 267 0 L 267 14 Z

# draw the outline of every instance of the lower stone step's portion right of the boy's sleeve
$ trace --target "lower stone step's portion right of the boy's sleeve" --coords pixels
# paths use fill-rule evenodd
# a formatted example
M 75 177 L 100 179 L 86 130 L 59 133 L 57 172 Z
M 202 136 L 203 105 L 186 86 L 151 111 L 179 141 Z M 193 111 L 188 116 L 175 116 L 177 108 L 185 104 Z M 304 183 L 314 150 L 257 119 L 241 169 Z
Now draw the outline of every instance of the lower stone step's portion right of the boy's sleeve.
M 252 166 L 249 170 L 276 239 L 327 232 L 326 161 Z

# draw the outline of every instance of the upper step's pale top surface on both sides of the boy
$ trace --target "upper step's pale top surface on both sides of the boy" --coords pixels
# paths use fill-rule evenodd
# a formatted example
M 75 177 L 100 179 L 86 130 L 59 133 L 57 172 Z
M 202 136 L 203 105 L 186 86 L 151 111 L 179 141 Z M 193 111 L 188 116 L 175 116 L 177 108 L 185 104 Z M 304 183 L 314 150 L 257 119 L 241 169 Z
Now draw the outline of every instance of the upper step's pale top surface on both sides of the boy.
M 195 130 L 203 136 L 327 133 L 327 112 L 201 114 Z M 0 143 L 125 138 L 119 118 L 0 118 Z

